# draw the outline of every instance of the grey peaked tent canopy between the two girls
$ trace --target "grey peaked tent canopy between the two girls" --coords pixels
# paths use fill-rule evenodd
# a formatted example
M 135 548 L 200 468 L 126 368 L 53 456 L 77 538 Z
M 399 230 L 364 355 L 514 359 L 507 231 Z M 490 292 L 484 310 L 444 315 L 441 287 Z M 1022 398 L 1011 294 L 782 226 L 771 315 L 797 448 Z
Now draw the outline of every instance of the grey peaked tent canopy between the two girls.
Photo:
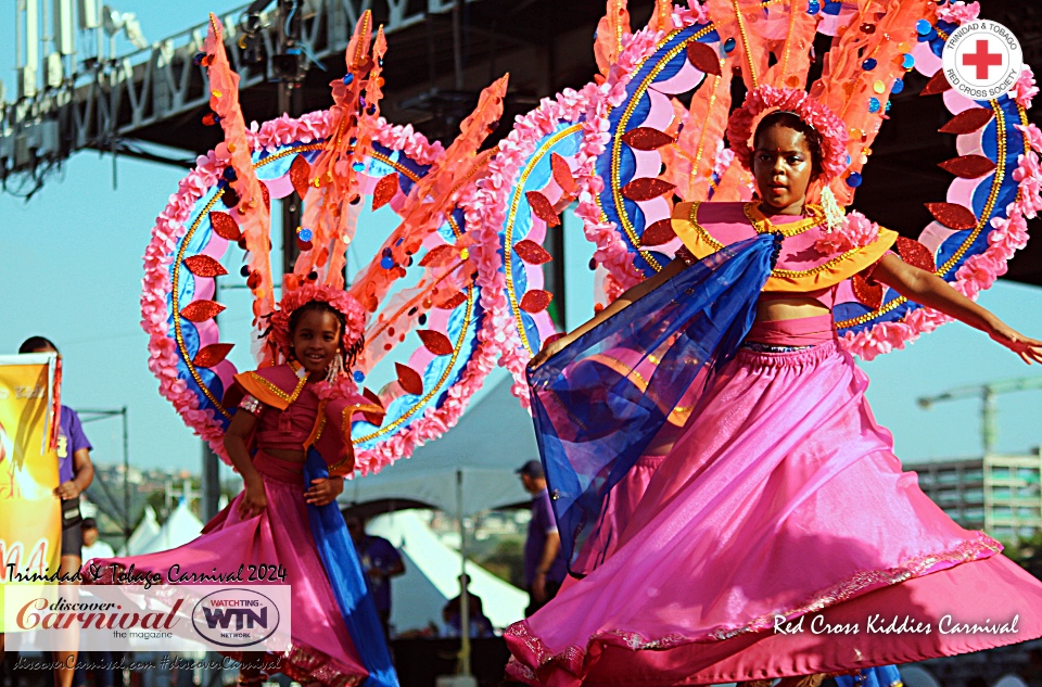
M 538 458 L 532 418 L 510 395 L 511 378 L 493 370 L 445 436 L 416 449 L 382 472 L 344 485 L 346 504 L 397 499 L 457 513 L 457 472 L 462 473 L 462 514 L 520 504 L 529 498 L 514 471 Z

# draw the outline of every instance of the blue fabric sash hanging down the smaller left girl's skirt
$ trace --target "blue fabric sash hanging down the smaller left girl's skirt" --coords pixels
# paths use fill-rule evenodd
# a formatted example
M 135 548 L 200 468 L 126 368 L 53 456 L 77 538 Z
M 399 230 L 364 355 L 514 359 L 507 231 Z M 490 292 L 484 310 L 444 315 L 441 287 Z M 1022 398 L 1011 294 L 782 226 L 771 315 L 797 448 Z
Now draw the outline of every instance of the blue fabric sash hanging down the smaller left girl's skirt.
M 304 484 L 310 486 L 312 480 L 328 476 L 326 461 L 317 450 L 308 449 L 304 463 Z M 308 504 L 307 514 L 315 546 L 318 547 L 333 596 L 340 606 L 340 614 L 358 650 L 361 664 L 369 671 L 365 687 L 398 687 L 398 676 L 391 663 L 391 651 L 383 636 L 377 605 L 366 584 L 366 573 L 358 562 L 347 524 L 336 508 L 336 501 L 326 506 Z

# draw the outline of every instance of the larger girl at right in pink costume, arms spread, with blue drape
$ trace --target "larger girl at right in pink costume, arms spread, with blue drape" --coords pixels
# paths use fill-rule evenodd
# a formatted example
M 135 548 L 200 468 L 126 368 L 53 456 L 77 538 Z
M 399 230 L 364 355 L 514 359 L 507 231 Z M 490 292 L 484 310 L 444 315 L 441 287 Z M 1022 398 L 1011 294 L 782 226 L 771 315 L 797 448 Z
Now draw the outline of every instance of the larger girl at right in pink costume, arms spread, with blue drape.
M 1042 584 L 902 472 L 830 308 L 860 273 L 1026 362 L 1042 343 L 889 252 L 894 232 L 809 205 L 846 126 L 802 91 L 753 102 L 727 133 L 759 200 L 677 204 L 677 259 L 530 366 L 582 578 L 507 632 L 528 684 L 816 685 L 1042 636 Z

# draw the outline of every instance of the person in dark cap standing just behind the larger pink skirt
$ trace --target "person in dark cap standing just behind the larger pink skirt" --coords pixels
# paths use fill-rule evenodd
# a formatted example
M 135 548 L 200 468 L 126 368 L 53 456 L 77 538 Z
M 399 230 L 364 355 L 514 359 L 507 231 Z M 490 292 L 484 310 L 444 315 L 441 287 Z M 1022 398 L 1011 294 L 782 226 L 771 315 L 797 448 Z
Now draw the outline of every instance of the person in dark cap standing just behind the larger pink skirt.
M 529 608 L 525 616 L 532 615 L 554 598 L 568 565 L 561 550 L 561 536 L 550 507 L 550 494 L 546 488 L 543 463 L 530 460 L 518 469 L 524 491 L 532 495 L 532 520 L 524 543 L 524 584 L 529 589 Z

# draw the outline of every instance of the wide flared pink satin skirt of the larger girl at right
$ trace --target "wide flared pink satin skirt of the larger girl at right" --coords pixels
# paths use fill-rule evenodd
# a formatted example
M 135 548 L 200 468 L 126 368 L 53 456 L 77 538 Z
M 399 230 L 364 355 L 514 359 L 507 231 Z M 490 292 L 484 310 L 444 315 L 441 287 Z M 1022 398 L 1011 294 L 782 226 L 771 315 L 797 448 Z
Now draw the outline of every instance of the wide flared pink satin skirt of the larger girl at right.
M 1042 584 L 902 471 L 867 384 L 834 341 L 741 349 L 636 505 L 610 514 L 625 519 L 618 547 L 510 627 L 508 673 L 554 687 L 717 684 L 1042 636 Z

